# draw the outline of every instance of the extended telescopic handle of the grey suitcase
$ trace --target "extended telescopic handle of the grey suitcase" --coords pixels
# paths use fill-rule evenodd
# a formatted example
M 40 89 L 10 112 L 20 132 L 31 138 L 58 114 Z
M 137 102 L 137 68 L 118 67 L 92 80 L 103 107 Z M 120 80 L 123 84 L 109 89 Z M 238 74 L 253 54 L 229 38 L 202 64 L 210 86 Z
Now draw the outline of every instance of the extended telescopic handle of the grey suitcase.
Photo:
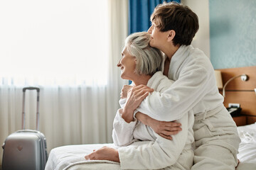
M 39 92 L 40 89 L 38 87 L 24 87 L 23 91 L 23 102 L 22 102 L 22 129 L 25 130 L 25 94 L 26 90 L 36 90 L 37 97 L 36 97 L 36 130 L 39 131 Z

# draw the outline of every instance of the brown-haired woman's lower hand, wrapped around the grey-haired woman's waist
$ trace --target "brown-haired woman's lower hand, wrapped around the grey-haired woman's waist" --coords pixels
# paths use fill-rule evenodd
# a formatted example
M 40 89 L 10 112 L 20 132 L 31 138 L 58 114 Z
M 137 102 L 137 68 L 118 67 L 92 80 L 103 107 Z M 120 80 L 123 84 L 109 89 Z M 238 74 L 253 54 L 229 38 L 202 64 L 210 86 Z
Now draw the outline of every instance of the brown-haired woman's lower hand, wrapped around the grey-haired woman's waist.
M 149 125 L 154 132 L 167 140 L 172 140 L 171 135 L 176 135 L 182 130 L 181 123 L 176 123 L 175 121 L 166 122 L 155 120 L 154 118 L 149 117 L 149 115 L 145 115 L 140 112 L 136 113 L 136 118 L 144 125 Z

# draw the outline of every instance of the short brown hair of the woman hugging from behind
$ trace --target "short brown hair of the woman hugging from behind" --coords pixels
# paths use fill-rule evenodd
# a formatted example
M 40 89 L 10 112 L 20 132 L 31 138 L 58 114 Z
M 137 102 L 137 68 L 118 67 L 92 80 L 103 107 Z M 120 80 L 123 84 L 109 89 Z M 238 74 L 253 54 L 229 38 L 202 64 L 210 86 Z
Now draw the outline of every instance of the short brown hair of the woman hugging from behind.
M 174 45 L 190 45 L 198 31 L 198 16 L 188 6 L 174 2 L 159 4 L 151 15 L 151 22 L 161 32 L 174 30 Z

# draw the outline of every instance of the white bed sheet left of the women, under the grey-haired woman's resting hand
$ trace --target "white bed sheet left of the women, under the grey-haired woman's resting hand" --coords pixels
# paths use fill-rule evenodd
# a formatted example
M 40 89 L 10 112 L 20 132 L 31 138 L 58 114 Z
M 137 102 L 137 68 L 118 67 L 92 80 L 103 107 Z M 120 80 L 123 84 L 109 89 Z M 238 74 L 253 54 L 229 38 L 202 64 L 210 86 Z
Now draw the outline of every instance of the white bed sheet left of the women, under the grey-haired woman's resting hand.
M 45 170 L 96 170 L 96 169 L 120 169 L 117 162 L 106 160 L 85 160 L 85 155 L 93 152 L 93 149 L 101 147 L 114 147 L 114 144 L 94 145 L 68 145 L 56 147 L 50 151 Z

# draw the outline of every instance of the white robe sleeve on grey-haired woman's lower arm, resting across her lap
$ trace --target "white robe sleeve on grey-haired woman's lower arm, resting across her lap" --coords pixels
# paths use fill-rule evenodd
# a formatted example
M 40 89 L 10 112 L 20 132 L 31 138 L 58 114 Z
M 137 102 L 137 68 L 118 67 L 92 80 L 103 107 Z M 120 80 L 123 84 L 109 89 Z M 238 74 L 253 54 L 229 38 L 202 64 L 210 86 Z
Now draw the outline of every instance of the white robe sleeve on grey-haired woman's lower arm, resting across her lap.
M 166 140 L 154 132 L 156 141 L 134 142 L 128 147 L 120 147 L 118 152 L 121 169 L 162 169 L 175 164 L 186 145 L 188 114 L 178 121 L 182 130 L 173 140 Z

